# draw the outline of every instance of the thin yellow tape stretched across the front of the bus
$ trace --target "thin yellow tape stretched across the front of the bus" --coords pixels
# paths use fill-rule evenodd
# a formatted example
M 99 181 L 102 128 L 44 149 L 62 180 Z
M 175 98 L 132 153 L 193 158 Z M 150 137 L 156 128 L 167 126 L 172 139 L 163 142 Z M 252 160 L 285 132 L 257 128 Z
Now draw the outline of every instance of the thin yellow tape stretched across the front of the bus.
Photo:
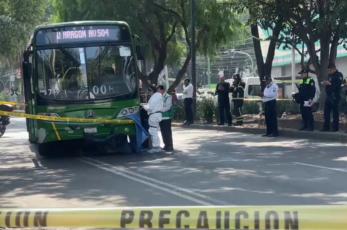
M 131 125 L 135 124 L 132 120 L 122 119 L 92 119 L 92 118 L 76 118 L 76 117 L 54 117 L 45 115 L 34 115 L 21 112 L 6 112 L 0 110 L 0 116 L 22 117 L 31 120 L 50 121 L 50 122 L 66 122 L 66 123 L 98 123 L 98 124 L 116 124 Z

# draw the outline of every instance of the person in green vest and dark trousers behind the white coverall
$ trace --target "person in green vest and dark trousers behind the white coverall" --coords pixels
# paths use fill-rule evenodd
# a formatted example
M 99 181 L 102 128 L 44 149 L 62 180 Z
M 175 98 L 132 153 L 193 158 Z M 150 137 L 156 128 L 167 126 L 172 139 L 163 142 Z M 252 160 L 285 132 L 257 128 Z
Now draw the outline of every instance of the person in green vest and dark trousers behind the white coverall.
M 163 150 L 166 152 L 173 152 L 173 141 L 172 141 L 172 129 L 171 129 L 171 121 L 174 116 L 174 105 L 173 105 L 173 97 L 165 92 L 163 94 L 163 112 L 162 112 L 162 120 L 160 124 L 161 136 L 164 142 Z

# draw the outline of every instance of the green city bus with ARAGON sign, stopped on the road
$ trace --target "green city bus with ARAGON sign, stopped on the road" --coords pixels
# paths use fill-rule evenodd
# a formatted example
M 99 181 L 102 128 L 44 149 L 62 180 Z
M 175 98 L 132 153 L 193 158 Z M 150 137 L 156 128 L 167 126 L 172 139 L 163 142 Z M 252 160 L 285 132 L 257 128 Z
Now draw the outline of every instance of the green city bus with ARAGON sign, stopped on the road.
M 127 23 L 80 21 L 39 26 L 23 55 L 26 113 L 71 118 L 128 119 L 139 111 L 136 46 Z M 136 140 L 124 124 L 27 119 L 31 143 Z

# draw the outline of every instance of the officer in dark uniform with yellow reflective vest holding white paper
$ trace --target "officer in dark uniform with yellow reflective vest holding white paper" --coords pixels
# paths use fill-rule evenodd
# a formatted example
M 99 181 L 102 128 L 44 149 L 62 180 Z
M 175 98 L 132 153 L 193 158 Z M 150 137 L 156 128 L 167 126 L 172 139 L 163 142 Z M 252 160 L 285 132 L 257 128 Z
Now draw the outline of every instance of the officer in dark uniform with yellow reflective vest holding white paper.
M 299 86 L 299 103 L 303 125 L 300 130 L 313 131 L 314 119 L 312 114 L 312 106 L 316 94 L 316 86 L 313 78 L 309 77 L 310 70 L 304 68 L 300 73 L 303 77 Z

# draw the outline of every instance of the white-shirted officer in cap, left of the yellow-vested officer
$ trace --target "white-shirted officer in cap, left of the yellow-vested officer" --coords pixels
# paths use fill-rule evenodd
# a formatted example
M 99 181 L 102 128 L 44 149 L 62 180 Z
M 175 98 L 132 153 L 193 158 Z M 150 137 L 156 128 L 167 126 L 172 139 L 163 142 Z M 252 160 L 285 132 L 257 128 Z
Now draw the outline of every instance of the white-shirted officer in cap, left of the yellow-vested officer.
M 272 82 L 270 76 L 266 76 L 266 87 L 263 92 L 265 124 L 266 124 L 266 137 L 277 137 L 277 111 L 276 99 L 278 94 L 278 86 Z

